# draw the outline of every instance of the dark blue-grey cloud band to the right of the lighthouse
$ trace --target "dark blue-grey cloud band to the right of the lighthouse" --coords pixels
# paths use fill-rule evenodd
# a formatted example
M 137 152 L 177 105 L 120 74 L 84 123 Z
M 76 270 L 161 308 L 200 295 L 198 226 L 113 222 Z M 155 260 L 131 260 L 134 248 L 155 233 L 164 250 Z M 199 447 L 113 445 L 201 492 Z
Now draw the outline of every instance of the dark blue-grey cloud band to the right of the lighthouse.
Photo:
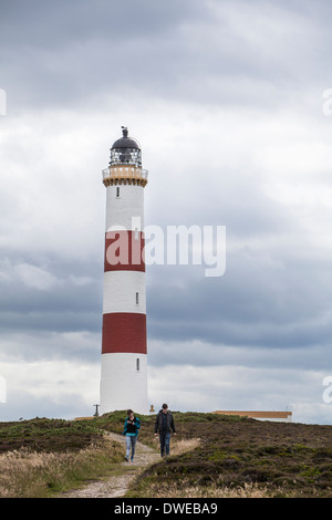
M 230 254 L 220 279 L 204 278 L 201 271 L 200 279 L 199 274 L 186 279 L 179 267 L 186 283 L 158 290 L 157 282 L 152 283 L 151 336 L 262 349 L 328 347 L 331 288 L 322 291 L 321 278 L 329 277 L 330 266 L 318 262 L 314 267 L 299 258 L 278 266 L 278 259 L 272 260 L 264 262 L 259 254 L 242 250 Z M 168 275 L 172 279 L 172 271 Z

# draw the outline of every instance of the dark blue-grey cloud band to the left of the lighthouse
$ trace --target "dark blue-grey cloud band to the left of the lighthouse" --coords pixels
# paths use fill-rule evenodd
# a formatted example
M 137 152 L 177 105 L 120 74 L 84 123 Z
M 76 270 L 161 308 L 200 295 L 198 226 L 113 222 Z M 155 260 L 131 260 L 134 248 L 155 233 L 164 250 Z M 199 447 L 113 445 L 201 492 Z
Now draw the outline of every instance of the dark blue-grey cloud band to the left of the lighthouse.
M 59 259 L 52 262 L 49 259 L 46 267 L 35 263 L 35 260 L 28 263 L 9 258 L 0 262 L 1 329 L 98 331 L 102 262 L 80 269 L 77 262 L 73 264 Z

